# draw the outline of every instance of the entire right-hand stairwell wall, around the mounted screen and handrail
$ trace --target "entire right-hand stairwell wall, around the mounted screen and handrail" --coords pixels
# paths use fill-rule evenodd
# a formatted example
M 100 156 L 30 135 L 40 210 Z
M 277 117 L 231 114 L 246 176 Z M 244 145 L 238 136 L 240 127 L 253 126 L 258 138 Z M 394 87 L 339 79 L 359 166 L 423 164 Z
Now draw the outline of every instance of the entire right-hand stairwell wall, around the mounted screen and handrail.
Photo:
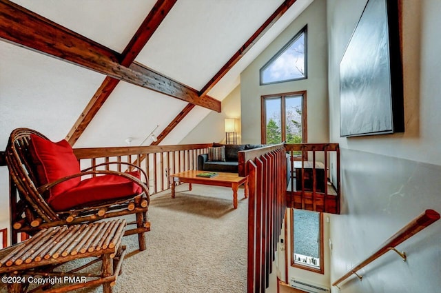
M 441 212 L 441 2 L 403 0 L 405 132 L 339 136 L 339 64 L 366 0 L 329 0 L 329 131 L 340 143 L 342 214 L 331 216 L 331 282 L 426 209 Z M 340 284 L 344 293 L 440 292 L 441 223 Z M 333 288 L 333 292 L 339 292 Z

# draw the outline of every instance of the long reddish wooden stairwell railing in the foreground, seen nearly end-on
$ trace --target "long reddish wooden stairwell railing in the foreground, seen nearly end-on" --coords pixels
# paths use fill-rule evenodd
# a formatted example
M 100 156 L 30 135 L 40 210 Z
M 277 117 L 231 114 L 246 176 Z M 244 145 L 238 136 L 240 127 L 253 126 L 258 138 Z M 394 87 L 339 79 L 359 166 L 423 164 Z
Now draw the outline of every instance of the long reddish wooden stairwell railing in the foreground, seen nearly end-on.
M 240 154 L 249 176 L 247 292 L 265 292 L 286 209 L 287 156 L 283 145 Z M 242 160 L 239 156 L 239 162 Z

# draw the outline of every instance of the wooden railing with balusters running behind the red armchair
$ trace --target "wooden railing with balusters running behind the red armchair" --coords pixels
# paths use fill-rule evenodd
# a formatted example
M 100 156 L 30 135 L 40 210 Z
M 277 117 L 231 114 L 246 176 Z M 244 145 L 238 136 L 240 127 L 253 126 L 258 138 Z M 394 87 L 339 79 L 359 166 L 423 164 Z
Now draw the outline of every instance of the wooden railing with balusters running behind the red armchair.
M 147 185 L 149 185 L 150 194 L 155 194 L 170 188 L 170 174 L 196 170 L 198 155 L 206 153 L 210 146 L 212 146 L 212 143 L 121 148 L 76 148 L 74 154 L 79 159 L 82 169 L 111 161 L 134 163 L 145 171 L 149 179 Z M 120 167 L 117 171 L 125 170 L 121 170 Z

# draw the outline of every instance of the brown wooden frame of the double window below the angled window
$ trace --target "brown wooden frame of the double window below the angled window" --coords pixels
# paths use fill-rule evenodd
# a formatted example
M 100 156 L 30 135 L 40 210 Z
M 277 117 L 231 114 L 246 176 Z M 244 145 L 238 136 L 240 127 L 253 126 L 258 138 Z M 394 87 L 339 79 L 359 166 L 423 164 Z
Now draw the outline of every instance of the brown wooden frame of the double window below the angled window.
M 282 130 L 282 142 L 286 141 L 286 108 L 285 99 L 291 96 L 302 96 L 302 143 L 307 143 L 307 91 L 285 92 L 283 94 L 267 94 L 260 97 L 260 142 L 267 143 L 267 109 L 266 99 L 280 98 L 280 129 Z

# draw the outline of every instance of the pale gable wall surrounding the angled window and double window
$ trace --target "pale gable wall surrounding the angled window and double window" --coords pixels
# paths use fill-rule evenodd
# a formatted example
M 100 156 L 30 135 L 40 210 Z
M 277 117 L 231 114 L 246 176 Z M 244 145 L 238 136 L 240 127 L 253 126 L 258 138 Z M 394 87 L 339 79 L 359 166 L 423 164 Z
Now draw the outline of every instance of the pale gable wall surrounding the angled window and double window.
M 259 85 L 260 68 L 274 57 L 305 25 L 307 28 L 307 74 L 300 81 Z M 260 143 L 260 97 L 307 90 L 307 138 L 309 143 L 328 141 L 327 108 L 327 32 L 326 1 L 316 0 L 300 14 L 243 72 L 240 74 L 242 111 L 242 141 Z

